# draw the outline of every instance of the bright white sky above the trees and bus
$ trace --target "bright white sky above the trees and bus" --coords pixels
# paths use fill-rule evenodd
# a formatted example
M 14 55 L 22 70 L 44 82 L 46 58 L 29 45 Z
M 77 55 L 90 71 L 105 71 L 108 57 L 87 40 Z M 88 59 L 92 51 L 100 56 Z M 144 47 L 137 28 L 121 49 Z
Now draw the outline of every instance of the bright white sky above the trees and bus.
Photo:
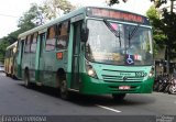
M 0 37 L 18 30 L 18 20 L 30 9 L 31 3 L 41 4 L 43 0 L 2 0 L 0 3 Z M 106 0 L 68 0 L 74 5 L 98 5 L 106 7 Z M 113 5 L 112 8 L 127 10 L 145 15 L 152 5 L 151 0 L 128 0 L 127 3 Z

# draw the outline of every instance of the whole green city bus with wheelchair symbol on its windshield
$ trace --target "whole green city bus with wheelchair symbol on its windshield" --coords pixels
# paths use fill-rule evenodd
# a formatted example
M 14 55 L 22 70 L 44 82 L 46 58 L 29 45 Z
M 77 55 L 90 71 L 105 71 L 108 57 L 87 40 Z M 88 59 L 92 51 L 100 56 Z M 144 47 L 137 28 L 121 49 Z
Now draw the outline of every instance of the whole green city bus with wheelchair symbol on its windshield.
M 82 95 L 151 93 L 154 82 L 148 19 L 85 7 L 19 35 L 18 77 Z

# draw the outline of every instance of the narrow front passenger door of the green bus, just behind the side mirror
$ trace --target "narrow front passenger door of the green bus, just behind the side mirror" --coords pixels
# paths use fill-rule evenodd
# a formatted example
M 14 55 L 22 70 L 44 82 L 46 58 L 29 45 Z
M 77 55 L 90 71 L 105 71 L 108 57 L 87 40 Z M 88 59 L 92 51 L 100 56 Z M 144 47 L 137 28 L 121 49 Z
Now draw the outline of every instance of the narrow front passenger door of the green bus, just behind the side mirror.
M 79 53 L 80 53 L 80 26 L 81 22 L 74 23 L 73 60 L 72 60 L 72 89 L 79 89 Z

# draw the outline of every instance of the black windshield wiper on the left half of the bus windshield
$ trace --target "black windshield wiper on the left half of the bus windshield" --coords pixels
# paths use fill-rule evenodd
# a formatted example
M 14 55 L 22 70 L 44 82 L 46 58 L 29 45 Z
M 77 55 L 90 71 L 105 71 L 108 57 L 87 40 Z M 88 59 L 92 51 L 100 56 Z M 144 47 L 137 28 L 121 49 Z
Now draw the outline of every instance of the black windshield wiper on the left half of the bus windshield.
M 117 37 L 119 37 L 119 44 L 120 44 L 120 47 L 121 47 L 120 31 L 116 31 L 116 30 L 113 29 L 113 26 L 112 26 L 106 19 L 103 19 L 103 22 L 105 22 L 105 24 L 108 26 L 108 29 L 109 29 Z

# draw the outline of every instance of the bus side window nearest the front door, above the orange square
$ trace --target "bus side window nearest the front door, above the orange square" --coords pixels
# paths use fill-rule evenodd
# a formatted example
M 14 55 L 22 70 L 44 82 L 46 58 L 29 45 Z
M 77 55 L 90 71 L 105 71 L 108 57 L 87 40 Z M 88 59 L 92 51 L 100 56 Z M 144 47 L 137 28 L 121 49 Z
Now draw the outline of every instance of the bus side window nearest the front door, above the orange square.
M 58 40 L 56 48 L 66 49 L 69 40 L 69 21 L 61 23 L 57 30 L 58 30 Z

